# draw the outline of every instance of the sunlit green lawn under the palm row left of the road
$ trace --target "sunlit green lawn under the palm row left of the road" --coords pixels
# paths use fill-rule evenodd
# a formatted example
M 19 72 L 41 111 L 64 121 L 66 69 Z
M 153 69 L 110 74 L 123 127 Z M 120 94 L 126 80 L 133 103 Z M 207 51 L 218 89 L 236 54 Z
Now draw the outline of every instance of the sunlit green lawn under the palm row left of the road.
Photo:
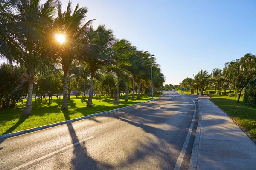
M 161 94 L 154 94 L 154 98 L 157 98 L 160 95 Z M 71 96 L 71 100 L 68 100 L 67 103 L 69 110 L 62 111 L 62 97 L 61 99 L 53 97 L 52 103 L 50 105 L 48 105 L 48 102 L 43 99 L 40 107 L 35 107 L 35 98 L 33 98 L 31 116 L 21 116 L 22 111 L 26 105 L 26 99 L 23 99 L 24 102 L 18 103 L 17 108 L 0 110 L 0 135 L 75 119 L 81 116 L 87 116 L 102 111 L 109 111 L 128 105 L 134 105 L 150 100 L 151 96 L 142 97 L 141 99 L 137 99 L 135 97 L 135 100 L 132 101 L 131 95 L 128 95 L 128 102 L 124 102 L 125 95 L 120 96 L 119 106 L 113 105 L 113 98 L 111 96 L 106 96 L 106 99 L 101 98 L 100 100 L 98 96 L 94 96 L 93 106 L 91 108 L 86 107 L 87 99 L 88 96 L 86 96 L 85 101 L 82 102 L 81 96 L 78 98 Z

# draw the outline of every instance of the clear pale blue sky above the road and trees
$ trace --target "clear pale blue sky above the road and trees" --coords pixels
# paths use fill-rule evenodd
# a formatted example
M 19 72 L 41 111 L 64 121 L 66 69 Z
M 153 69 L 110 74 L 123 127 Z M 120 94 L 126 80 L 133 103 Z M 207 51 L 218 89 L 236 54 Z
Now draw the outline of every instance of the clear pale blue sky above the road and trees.
M 79 2 L 94 27 L 106 24 L 154 54 L 166 84 L 256 54 L 255 0 L 72 0 L 73 7 Z

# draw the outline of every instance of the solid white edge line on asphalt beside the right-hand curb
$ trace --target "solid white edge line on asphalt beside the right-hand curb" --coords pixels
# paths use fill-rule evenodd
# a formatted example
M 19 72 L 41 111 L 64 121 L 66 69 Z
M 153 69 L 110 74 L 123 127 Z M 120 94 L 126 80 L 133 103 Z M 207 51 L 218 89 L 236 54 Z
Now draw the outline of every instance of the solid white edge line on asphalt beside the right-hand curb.
M 190 98 L 190 97 L 189 97 Z M 191 99 L 191 98 L 190 98 Z M 195 105 L 195 101 L 192 99 L 192 101 L 194 102 L 194 105 Z M 184 156 L 185 156 L 185 153 L 186 153 L 186 149 L 188 147 L 188 144 L 189 144 L 189 139 L 190 139 L 190 136 L 191 136 L 191 133 L 192 133 L 192 129 L 193 129 L 193 126 L 194 126 L 194 122 L 195 122 L 195 113 L 196 113 L 196 105 L 195 105 L 195 108 L 194 108 L 194 116 L 193 116 L 193 119 L 192 119 L 192 122 L 191 122 L 191 125 L 190 125 L 190 128 L 189 128 L 189 132 L 187 134 L 187 137 L 186 137 L 186 140 L 183 144 L 183 147 L 180 151 L 180 155 L 177 159 L 177 162 L 175 164 L 175 167 L 174 167 L 174 170 L 180 170 L 180 167 L 181 167 L 181 164 L 182 164 L 182 161 L 184 159 Z

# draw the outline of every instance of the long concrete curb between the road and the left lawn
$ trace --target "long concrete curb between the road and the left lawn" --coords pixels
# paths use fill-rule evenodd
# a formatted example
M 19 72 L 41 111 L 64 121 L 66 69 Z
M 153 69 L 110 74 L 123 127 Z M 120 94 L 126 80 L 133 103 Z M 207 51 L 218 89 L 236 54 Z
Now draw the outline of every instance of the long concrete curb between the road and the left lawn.
M 79 117 L 79 118 L 76 118 L 76 119 L 70 119 L 70 120 L 66 120 L 66 121 L 63 121 L 63 122 L 53 123 L 53 124 L 50 124 L 50 125 L 44 125 L 44 126 L 40 126 L 40 127 L 27 129 L 27 130 L 21 130 L 21 131 L 17 131 L 17 132 L 13 132 L 13 133 L 7 133 L 7 134 L 4 134 L 4 135 L 0 135 L 0 140 L 1 139 L 7 139 L 7 138 L 10 138 L 10 137 L 14 137 L 14 136 L 23 135 L 23 134 L 30 133 L 30 132 L 35 132 L 35 131 L 42 130 L 42 129 L 47 129 L 49 127 L 64 125 L 64 124 L 67 124 L 67 123 L 70 123 L 70 122 L 76 122 L 76 121 L 79 121 L 79 120 L 82 120 L 82 119 L 88 119 L 88 118 L 91 118 L 91 117 L 111 113 L 111 112 L 114 112 L 114 111 L 119 111 L 119 110 L 126 109 L 126 108 L 131 108 L 131 107 L 134 107 L 134 106 L 137 106 L 137 105 L 141 105 L 143 103 L 147 103 L 147 102 L 151 102 L 153 100 L 159 99 L 162 96 L 163 96 L 163 94 L 161 96 L 155 98 L 155 99 L 151 99 L 151 100 L 148 100 L 146 102 L 141 102 L 141 103 L 137 103 L 135 105 L 125 106 L 125 107 L 113 109 L 113 110 L 110 110 L 110 111 L 104 111 L 104 112 L 100 112 L 100 113 L 95 113 L 95 114 Z

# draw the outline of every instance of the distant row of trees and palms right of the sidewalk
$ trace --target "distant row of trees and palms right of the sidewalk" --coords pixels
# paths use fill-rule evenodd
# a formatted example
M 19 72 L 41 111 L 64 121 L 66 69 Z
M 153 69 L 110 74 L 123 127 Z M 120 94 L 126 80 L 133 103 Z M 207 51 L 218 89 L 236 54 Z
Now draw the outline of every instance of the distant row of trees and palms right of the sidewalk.
M 240 59 L 225 63 L 225 67 L 221 70 L 215 68 L 211 74 L 207 71 L 199 71 L 194 75 L 194 79 L 186 78 L 180 83 L 180 87 L 188 87 L 201 89 L 214 88 L 215 91 L 226 89 L 234 90 L 239 93 L 237 102 L 239 103 L 241 93 L 249 81 L 256 77 L 256 56 L 250 53 L 245 54 Z

